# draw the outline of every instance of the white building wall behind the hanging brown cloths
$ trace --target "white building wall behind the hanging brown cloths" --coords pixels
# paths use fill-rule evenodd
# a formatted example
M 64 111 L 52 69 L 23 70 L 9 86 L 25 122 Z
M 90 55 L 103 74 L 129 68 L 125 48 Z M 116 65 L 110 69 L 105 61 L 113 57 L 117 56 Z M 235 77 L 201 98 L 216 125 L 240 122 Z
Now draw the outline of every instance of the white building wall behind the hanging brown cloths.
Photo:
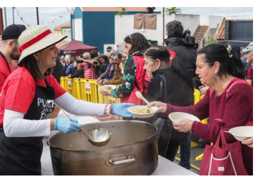
M 157 40 L 159 45 L 163 45 L 163 14 L 157 14 L 157 30 L 150 29 L 134 29 L 134 15 L 115 16 L 115 44 L 118 48 L 124 46 L 124 37 L 134 32 L 141 32 L 148 40 Z M 185 29 L 189 29 L 193 34 L 200 23 L 199 15 L 184 14 L 165 14 L 164 38 L 166 35 L 166 24 L 172 20 L 182 22 Z

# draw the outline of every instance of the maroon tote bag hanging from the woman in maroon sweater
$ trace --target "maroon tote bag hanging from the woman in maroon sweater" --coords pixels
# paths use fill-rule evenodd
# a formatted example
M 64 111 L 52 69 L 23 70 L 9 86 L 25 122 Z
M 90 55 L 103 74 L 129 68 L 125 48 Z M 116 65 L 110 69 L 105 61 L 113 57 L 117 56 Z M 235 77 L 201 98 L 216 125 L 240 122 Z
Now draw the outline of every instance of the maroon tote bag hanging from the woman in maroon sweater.
M 214 120 L 219 124 L 222 121 Z M 227 143 L 221 127 L 216 143 L 207 144 L 204 149 L 199 175 L 248 175 L 243 164 L 241 142 Z

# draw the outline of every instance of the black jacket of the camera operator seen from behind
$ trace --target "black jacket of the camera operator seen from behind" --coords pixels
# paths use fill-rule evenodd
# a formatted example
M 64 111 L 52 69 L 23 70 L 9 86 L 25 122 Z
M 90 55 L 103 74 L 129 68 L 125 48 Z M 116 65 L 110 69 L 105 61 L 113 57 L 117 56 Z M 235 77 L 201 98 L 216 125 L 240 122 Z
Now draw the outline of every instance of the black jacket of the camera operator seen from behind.
M 172 59 L 172 65 L 178 68 L 177 72 L 180 72 L 192 90 L 194 89 L 193 77 L 196 76 L 196 57 L 197 50 L 190 45 L 187 45 L 182 39 L 171 37 L 165 39 L 166 49 L 173 50 L 175 57 Z M 174 62 L 174 60 L 177 60 Z

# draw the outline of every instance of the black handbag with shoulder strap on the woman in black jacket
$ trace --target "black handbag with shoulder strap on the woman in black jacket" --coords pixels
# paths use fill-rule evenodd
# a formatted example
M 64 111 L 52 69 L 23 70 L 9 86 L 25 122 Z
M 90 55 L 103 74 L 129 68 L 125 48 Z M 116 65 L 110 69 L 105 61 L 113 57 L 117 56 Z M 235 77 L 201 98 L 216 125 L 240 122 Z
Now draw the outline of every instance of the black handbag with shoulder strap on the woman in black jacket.
M 160 82 L 160 101 L 164 102 L 167 97 L 167 82 L 164 75 L 158 74 L 161 77 Z M 158 118 L 156 118 L 158 116 Z M 174 129 L 173 123 L 169 118 L 166 118 L 162 113 L 155 114 L 155 121 L 153 124 L 158 128 L 157 131 L 157 141 L 158 141 L 158 154 L 165 157 L 168 149 L 169 142 L 184 141 L 188 133 L 179 132 Z

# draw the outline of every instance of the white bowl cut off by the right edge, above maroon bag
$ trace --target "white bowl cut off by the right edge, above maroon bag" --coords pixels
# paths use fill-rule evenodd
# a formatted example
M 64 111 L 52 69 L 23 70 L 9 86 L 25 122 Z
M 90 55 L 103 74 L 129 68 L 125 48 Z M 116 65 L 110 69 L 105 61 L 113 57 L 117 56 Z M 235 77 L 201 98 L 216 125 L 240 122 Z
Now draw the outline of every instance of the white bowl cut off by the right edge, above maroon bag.
M 229 129 L 229 132 L 239 141 L 253 137 L 253 126 L 237 126 Z

